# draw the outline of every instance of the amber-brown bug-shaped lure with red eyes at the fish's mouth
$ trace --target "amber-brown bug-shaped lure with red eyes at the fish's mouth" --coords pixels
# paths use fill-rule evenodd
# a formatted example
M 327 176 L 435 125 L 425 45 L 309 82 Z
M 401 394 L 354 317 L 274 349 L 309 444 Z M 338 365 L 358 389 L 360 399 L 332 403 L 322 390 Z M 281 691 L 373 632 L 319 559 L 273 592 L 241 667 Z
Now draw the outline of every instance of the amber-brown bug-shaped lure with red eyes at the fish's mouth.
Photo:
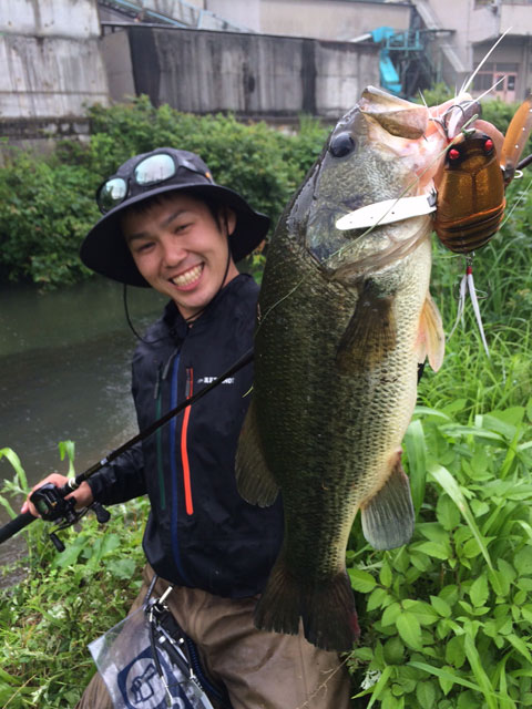
M 498 232 L 504 216 L 504 192 L 515 175 L 518 161 L 532 130 L 532 95 L 513 116 L 500 155 L 493 138 L 477 130 L 474 120 L 471 125 L 470 129 L 461 129 L 456 136 L 448 134 L 449 147 L 443 169 L 434 178 L 438 199 L 433 228 L 447 248 L 467 256 L 457 323 L 469 291 L 489 356 L 474 290 L 472 260 L 474 251 L 485 246 Z

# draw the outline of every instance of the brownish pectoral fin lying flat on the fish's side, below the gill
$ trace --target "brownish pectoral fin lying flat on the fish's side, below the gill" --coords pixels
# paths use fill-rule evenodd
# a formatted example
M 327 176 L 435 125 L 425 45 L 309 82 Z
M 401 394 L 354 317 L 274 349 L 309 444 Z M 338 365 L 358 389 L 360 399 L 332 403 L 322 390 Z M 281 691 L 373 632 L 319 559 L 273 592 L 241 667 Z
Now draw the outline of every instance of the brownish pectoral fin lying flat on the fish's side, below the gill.
M 378 297 L 364 288 L 355 312 L 341 336 L 336 363 L 346 373 L 374 369 L 396 346 L 393 297 Z

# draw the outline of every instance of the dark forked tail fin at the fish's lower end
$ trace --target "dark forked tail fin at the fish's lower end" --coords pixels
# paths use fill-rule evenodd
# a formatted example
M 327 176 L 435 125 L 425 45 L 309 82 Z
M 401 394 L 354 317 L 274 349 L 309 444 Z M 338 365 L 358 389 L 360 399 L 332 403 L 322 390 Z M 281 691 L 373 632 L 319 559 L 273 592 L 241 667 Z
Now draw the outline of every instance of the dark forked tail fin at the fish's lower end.
M 301 586 L 282 553 L 255 609 L 255 625 L 260 630 L 297 635 L 300 618 L 306 639 L 324 650 L 347 653 L 360 635 L 347 573 Z

